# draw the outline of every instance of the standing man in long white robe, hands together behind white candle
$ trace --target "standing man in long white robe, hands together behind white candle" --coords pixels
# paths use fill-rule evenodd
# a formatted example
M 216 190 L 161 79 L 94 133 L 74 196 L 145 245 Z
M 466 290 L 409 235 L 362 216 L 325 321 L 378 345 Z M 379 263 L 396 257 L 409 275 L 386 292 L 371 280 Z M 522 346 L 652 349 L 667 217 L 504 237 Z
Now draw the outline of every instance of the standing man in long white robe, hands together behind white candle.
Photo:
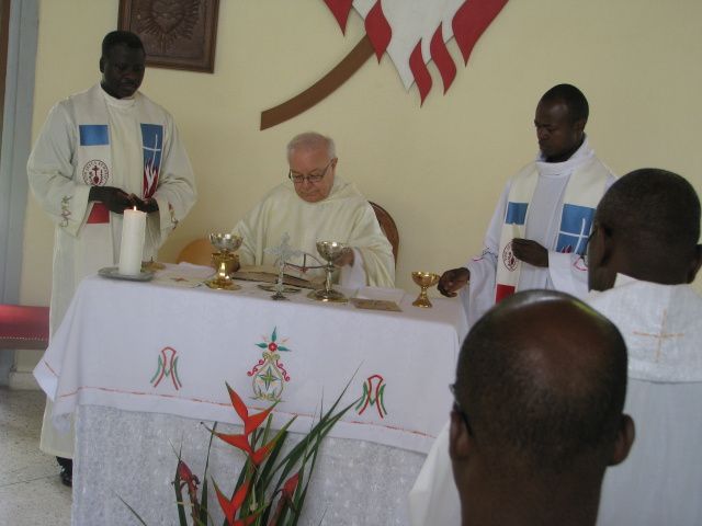
M 117 264 L 125 208 L 148 214 L 144 259 L 149 260 L 195 202 L 194 174 L 171 115 L 137 91 L 144 65 L 138 36 L 109 33 L 101 82 L 52 108 L 30 156 L 30 187 L 56 224 L 52 334 L 81 278 Z M 41 448 L 70 459 L 72 430 L 57 432 L 50 412 L 48 401 Z

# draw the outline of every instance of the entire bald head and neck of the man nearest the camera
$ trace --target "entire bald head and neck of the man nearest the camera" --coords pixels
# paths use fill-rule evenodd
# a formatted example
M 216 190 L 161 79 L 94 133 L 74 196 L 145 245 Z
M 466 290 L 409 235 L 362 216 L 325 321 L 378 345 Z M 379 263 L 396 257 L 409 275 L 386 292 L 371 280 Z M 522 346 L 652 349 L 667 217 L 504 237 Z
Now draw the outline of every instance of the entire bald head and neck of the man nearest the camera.
M 490 309 L 456 368 L 450 454 L 464 515 L 517 491 L 529 495 L 519 513 L 558 518 L 573 498 L 593 522 L 604 470 L 633 442 L 625 393 L 624 341 L 580 300 L 530 290 Z

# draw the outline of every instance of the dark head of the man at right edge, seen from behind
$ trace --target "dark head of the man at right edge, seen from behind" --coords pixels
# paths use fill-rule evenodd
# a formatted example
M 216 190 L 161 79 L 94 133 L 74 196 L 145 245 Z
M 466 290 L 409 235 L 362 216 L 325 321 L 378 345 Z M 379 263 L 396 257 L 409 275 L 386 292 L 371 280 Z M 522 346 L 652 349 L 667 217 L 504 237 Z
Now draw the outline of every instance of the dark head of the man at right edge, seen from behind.
M 604 194 L 589 243 L 590 288 L 604 290 L 616 273 L 663 284 L 690 283 L 702 261 L 700 199 L 677 173 L 635 170 Z

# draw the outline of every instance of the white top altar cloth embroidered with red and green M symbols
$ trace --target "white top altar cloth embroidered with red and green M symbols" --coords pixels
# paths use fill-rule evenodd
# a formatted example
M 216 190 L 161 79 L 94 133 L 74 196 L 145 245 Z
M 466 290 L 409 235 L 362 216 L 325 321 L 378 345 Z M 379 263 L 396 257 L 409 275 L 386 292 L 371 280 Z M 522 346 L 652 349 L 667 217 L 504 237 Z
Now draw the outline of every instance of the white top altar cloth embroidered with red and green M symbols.
M 272 301 L 241 285 L 86 278 L 34 371 L 54 400 L 54 421 L 89 404 L 239 423 L 227 381 L 253 410 L 271 404 L 261 393 L 280 396 L 274 425 L 296 415 L 291 431 L 304 433 L 322 397 L 328 407 L 358 369 L 342 403 L 359 402 L 331 436 L 429 450 L 466 332 L 457 301 L 419 309 L 407 294 L 403 312 L 381 312 L 304 291 Z

